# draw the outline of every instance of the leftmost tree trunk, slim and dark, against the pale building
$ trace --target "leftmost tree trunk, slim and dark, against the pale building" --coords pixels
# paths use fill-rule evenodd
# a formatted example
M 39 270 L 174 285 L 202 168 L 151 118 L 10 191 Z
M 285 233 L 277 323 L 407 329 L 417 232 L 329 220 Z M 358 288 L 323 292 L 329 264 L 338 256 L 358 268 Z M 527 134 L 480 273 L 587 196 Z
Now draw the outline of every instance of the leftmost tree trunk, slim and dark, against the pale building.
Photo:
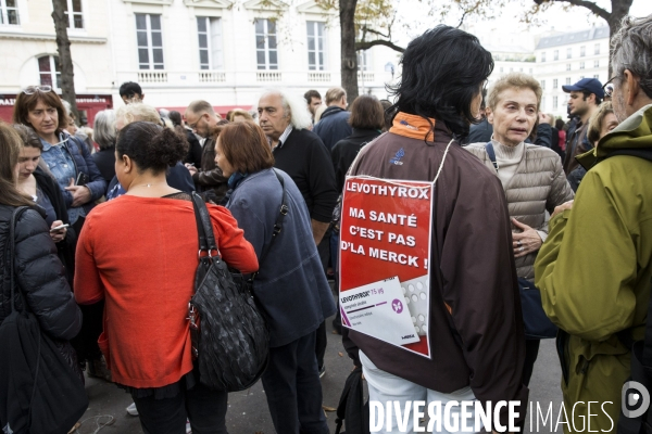
M 73 58 L 71 55 L 71 40 L 67 37 L 68 18 L 65 14 L 67 8 L 66 0 L 52 0 L 52 5 L 54 7 L 52 20 L 54 21 L 57 51 L 59 52 L 59 68 L 61 71 L 61 97 L 71 103 L 71 111 L 77 120 L 79 120 L 77 114 L 77 95 L 75 93 L 75 73 L 73 71 Z M 55 87 L 57 84 L 53 85 L 53 87 Z

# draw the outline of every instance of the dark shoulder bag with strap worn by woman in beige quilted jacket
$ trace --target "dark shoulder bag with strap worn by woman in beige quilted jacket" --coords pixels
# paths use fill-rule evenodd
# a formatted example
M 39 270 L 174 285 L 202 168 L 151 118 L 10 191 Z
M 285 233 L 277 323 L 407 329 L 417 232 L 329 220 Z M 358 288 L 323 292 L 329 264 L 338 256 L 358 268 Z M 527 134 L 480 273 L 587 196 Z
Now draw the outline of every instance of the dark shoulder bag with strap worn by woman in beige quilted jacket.
M 498 161 L 493 144 L 485 145 L 487 156 L 498 173 Z M 525 337 L 529 340 L 552 339 L 556 336 L 557 328 L 546 315 L 541 304 L 541 292 L 529 280 L 518 278 L 518 292 L 521 293 L 521 307 L 523 309 L 523 322 L 525 326 Z

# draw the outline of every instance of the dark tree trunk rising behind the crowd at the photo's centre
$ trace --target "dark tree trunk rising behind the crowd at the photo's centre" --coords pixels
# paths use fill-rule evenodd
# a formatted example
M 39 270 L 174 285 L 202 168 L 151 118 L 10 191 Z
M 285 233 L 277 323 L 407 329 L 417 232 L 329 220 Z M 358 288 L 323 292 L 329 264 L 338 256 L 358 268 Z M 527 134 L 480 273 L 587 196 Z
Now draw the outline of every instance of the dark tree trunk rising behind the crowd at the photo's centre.
M 355 7 L 358 0 L 339 0 L 341 33 L 341 75 L 347 100 L 358 98 L 358 54 L 355 52 Z

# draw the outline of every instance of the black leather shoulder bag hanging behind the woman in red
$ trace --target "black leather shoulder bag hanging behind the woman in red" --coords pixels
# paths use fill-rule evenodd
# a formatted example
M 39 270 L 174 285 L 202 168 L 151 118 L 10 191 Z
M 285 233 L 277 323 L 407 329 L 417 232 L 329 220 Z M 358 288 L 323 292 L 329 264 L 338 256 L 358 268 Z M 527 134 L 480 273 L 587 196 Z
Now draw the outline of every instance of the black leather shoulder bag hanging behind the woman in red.
M 259 265 L 263 264 L 288 214 L 284 180 L 274 174 L 283 187 L 283 203 L 272 241 Z M 229 270 L 220 257 L 205 203 L 197 193 L 192 193 L 192 203 L 199 233 L 199 266 L 195 276 L 196 292 L 188 304 L 188 319 L 200 382 L 213 390 L 243 391 L 261 378 L 269 353 L 264 309 L 253 296 L 256 273 L 246 279 L 239 271 Z

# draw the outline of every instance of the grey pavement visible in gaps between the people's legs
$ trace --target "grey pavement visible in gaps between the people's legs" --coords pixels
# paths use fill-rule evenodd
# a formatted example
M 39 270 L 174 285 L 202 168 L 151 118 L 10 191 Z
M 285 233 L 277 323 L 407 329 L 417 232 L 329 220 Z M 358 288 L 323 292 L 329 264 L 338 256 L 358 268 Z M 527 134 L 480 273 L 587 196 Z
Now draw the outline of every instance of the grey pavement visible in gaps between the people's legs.
M 326 322 L 330 329 L 330 319 Z M 328 348 L 326 352 L 326 375 L 322 379 L 324 391 L 324 405 L 327 407 L 337 407 L 339 395 L 344 381 L 352 369 L 352 362 L 347 356 L 341 336 L 336 334 L 328 335 Z M 539 403 L 546 411 L 553 404 L 553 414 L 560 411 L 562 394 L 560 392 L 561 370 L 555 354 L 554 341 L 548 340 L 541 343 L 539 358 L 535 366 L 535 372 L 530 384 L 530 403 Z M 86 391 L 90 397 L 90 406 L 86 411 L 85 418 L 92 418 L 101 414 L 109 414 L 114 418 L 111 425 L 103 427 L 100 434 L 131 434 L 141 433 L 140 423 L 137 417 L 128 416 L 125 408 L 131 403 L 129 395 L 101 380 L 88 379 Z M 261 382 L 246 392 L 234 393 L 229 396 L 229 408 L 227 412 L 227 426 L 230 434 L 273 434 L 274 427 L 267 410 L 265 392 Z M 531 406 L 531 404 L 530 404 Z M 536 408 L 536 407 L 535 407 Z M 328 425 L 330 432 L 335 433 L 335 413 L 327 412 Z M 555 432 L 550 424 L 542 425 L 539 422 L 537 430 L 536 419 L 532 418 L 532 429 L 530 430 L 529 416 L 526 422 L 526 433 L 552 433 Z M 101 419 L 105 421 L 108 418 Z M 79 434 L 90 434 L 97 429 L 96 420 L 90 419 L 79 427 Z M 562 432 L 561 427 L 560 431 Z

